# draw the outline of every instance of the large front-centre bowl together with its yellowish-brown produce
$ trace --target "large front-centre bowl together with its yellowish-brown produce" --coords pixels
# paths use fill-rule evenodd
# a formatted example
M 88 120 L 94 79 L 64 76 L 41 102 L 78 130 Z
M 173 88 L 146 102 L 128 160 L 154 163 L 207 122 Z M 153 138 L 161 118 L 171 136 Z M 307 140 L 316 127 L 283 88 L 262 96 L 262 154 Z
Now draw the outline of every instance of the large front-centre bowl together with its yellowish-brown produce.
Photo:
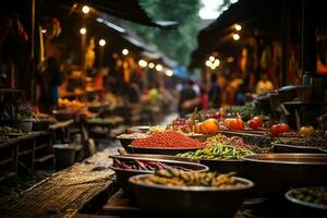
M 232 217 L 254 183 L 217 172 L 158 170 L 130 178 L 141 210 L 180 217 Z

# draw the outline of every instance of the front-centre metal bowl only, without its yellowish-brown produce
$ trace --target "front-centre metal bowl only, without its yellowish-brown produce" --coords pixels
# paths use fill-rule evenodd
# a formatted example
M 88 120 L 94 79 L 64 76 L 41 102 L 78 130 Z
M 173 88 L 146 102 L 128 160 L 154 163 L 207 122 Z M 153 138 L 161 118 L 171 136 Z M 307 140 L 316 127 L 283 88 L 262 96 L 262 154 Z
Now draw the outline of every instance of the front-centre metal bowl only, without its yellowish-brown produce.
M 246 192 L 254 186 L 250 180 L 234 178 L 244 183 L 244 186 L 178 187 L 138 182 L 138 179 L 144 177 L 149 175 L 135 175 L 129 180 L 134 186 L 137 205 L 145 213 L 167 215 L 167 217 L 232 217 L 242 205 Z

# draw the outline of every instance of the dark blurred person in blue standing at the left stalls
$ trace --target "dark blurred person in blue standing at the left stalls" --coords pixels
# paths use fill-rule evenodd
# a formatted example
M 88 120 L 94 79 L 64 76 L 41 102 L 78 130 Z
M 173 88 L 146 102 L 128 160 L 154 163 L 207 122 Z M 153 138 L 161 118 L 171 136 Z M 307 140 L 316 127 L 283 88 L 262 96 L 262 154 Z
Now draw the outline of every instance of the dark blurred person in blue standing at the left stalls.
M 62 83 L 59 64 L 53 57 L 49 57 L 46 61 L 46 68 L 36 77 L 36 96 L 39 111 L 51 114 L 58 106 L 59 86 Z

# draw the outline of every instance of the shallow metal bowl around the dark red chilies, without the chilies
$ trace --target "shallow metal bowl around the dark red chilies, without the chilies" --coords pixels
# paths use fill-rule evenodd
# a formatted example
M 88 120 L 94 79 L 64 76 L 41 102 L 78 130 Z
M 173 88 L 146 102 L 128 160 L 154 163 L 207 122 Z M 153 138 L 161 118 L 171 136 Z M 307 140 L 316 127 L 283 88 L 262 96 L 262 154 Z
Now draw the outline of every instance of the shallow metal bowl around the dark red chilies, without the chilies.
M 110 158 L 117 158 L 120 160 L 154 160 L 154 161 L 160 161 L 164 164 L 168 164 L 171 166 L 180 166 L 183 168 L 187 168 L 191 169 L 195 172 L 206 172 L 209 170 L 209 168 L 207 166 L 201 165 L 201 164 L 196 164 L 196 162 L 190 162 L 190 161 L 182 161 L 182 158 L 180 160 L 170 160 L 167 158 L 146 158 L 146 157 L 129 157 L 129 156 L 120 156 L 120 155 L 112 155 L 109 156 Z M 178 157 L 174 157 L 178 158 Z M 112 165 L 109 166 L 110 169 L 112 169 L 116 173 L 117 177 L 117 182 L 118 184 L 121 185 L 121 187 L 123 189 L 124 193 L 129 196 L 133 196 L 133 190 L 131 184 L 129 183 L 129 179 L 133 175 L 136 174 L 148 174 L 148 173 L 154 173 L 154 171 L 149 171 L 149 170 L 126 170 L 126 169 L 121 169 L 121 168 L 117 168 L 113 167 Z

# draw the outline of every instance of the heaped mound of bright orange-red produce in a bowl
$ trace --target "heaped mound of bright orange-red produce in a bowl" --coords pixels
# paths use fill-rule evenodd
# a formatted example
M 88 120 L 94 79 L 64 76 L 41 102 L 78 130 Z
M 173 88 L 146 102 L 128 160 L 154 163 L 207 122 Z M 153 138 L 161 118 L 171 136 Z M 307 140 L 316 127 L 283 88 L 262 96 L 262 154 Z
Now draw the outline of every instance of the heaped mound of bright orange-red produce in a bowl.
M 159 148 L 203 148 L 205 144 L 174 131 L 166 131 L 153 134 L 146 138 L 134 140 L 133 147 L 159 147 Z

